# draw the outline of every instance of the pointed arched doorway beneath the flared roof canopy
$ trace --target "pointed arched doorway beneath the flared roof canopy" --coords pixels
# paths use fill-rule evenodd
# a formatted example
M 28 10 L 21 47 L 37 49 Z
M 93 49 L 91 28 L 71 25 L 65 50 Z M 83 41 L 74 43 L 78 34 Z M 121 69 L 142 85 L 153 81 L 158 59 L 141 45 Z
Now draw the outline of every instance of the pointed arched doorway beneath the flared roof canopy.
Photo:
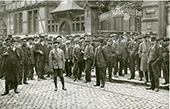
M 63 21 L 60 25 L 60 28 L 59 28 L 59 33 L 61 35 L 69 35 L 71 32 L 70 32 L 70 25 L 66 22 L 66 21 Z

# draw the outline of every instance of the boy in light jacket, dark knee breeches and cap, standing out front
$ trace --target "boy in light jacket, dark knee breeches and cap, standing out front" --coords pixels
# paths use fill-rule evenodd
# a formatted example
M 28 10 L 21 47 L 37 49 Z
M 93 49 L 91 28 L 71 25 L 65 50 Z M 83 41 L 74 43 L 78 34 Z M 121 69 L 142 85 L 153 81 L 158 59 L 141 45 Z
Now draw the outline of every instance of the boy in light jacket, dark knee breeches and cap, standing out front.
M 57 91 L 57 76 L 59 76 L 61 80 L 62 89 L 66 90 L 63 77 L 63 70 L 65 69 L 64 52 L 59 48 L 60 46 L 59 41 L 55 41 L 53 44 L 54 49 L 52 49 L 49 54 L 49 65 L 54 75 L 55 91 Z

